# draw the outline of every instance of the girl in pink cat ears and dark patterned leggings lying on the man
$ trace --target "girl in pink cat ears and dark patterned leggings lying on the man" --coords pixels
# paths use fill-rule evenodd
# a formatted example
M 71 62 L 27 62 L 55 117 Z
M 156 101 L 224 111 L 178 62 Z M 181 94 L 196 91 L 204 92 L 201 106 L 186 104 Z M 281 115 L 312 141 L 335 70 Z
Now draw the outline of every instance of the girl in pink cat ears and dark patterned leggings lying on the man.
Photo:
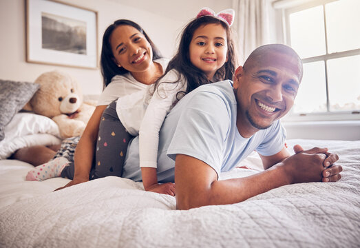
M 199 85 L 233 79 L 232 22 L 233 10 L 218 16 L 209 9 L 201 10 L 198 17 L 184 28 L 178 52 L 169 62 L 165 76 L 145 94 L 137 92 L 120 97 L 109 105 L 100 122 L 92 178 L 109 174 L 121 176 L 129 139 L 139 134 L 145 190 L 175 195 L 173 183 L 158 184 L 158 133 L 166 114 L 184 94 Z

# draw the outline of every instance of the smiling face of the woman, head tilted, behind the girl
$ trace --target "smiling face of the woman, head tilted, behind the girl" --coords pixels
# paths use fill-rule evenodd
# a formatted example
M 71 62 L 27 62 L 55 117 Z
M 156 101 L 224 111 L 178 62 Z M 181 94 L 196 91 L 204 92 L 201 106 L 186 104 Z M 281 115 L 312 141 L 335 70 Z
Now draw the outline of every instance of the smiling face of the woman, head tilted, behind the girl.
M 120 25 L 109 38 L 114 62 L 129 72 L 145 72 L 152 63 L 150 43 L 131 25 Z

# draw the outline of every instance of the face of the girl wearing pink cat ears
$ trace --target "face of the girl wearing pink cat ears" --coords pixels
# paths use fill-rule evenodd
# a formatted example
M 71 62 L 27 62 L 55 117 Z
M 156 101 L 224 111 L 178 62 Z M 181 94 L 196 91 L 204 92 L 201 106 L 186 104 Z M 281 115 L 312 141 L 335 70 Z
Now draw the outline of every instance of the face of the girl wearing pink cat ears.
M 202 70 L 209 80 L 227 61 L 226 30 L 221 24 L 207 24 L 193 33 L 190 42 L 190 61 Z

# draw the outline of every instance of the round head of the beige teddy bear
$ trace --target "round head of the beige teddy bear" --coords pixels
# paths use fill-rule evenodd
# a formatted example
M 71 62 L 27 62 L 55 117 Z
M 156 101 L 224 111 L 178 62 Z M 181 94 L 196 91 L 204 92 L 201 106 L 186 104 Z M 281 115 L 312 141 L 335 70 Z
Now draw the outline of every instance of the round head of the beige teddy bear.
M 36 79 L 40 89 L 30 101 L 36 114 L 54 117 L 59 114 L 72 114 L 83 103 L 78 83 L 69 75 L 54 71 L 45 72 Z

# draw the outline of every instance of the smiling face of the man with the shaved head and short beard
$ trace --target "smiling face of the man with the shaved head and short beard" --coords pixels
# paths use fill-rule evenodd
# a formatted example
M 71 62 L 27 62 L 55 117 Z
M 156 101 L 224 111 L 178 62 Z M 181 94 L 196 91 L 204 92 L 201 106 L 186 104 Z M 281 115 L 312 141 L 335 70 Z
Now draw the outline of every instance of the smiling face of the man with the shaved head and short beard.
M 237 128 L 244 137 L 266 129 L 288 113 L 302 76 L 301 61 L 273 50 L 255 56 L 237 68 Z

